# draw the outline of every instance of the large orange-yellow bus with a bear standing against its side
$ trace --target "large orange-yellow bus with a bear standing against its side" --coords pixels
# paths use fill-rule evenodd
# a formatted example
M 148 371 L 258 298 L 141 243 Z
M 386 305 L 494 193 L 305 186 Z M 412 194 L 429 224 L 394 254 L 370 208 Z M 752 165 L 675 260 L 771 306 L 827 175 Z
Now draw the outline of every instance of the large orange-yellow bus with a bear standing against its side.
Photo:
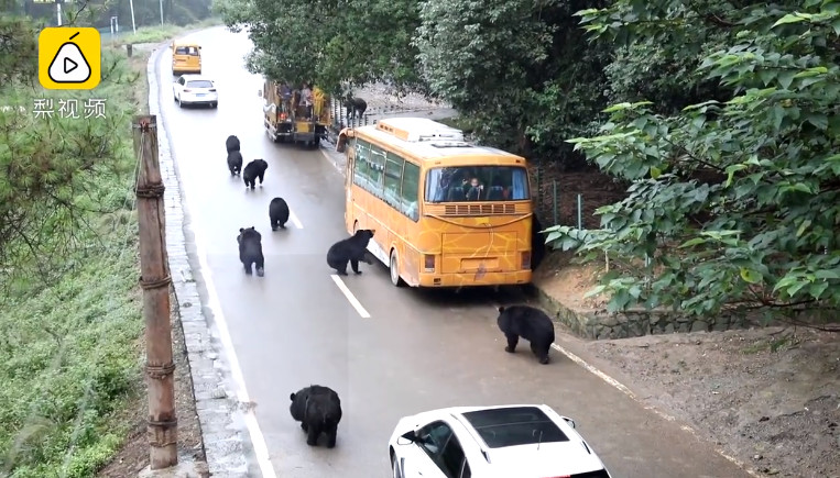
M 525 158 L 425 118 L 345 129 L 336 151 L 347 153 L 347 230 L 375 231 L 368 249 L 394 286 L 531 282 Z

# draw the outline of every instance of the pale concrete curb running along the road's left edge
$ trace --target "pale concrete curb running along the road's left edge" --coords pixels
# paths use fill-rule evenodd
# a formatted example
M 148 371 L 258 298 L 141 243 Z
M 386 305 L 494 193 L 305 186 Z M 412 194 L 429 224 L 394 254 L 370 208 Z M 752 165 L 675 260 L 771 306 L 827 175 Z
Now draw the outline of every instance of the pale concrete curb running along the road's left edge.
M 164 119 L 161 115 L 156 65 L 168 42 L 159 44 L 152 52 L 146 65 L 146 77 L 149 113 L 157 116 L 159 157 L 163 184 L 166 188 L 164 193 L 166 252 L 172 284 L 175 288 L 178 314 L 184 330 L 193 377 L 193 393 L 208 469 L 214 477 L 244 477 L 249 475 L 246 441 L 242 436 L 242 427 L 233 421 L 233 416 L 238 414 L 239 404 L 230 398 L 236 397 L 236 393 L 228 388 L 229 383 L 222 373 L 229 369 L 229 365 L 216 352 L 218 348 L 214 344 L 209 322 L 203 311 L 198 285 L 189 263 L 190 256 L 195 254 L 187 252 L 182 188 Z

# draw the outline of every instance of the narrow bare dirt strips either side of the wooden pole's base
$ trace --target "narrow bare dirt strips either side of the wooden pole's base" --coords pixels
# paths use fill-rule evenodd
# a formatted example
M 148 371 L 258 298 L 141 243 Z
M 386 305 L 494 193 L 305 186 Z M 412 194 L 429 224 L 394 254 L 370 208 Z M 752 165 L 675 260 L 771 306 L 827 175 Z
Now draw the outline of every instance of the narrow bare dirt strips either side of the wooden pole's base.
M 201 427 L 196 413 L 193 394 L 193 378 L 189 373 L 187 349 L 184 343 L 184 331 L 175 309 L 177 303 L 174 296 L 172 303 L 172 352 L 175 362 L 175 414 L 178 419 L 178 456 L 189 456 L 197 464 L 199 474 L 206 478 L 206 459 L 201 443 Z M 145 346 L 145 345 L 143 345 Z M 149 466 L 149 441 L 146 437 L 146 404 L 145 385 L 137 407 L 132 407 L 131 421 L 135 423 L 131 434 L 126 438 L 117 456 L 102 468 L 99 478 L 126 478 L 138 476 L 138 473 Z

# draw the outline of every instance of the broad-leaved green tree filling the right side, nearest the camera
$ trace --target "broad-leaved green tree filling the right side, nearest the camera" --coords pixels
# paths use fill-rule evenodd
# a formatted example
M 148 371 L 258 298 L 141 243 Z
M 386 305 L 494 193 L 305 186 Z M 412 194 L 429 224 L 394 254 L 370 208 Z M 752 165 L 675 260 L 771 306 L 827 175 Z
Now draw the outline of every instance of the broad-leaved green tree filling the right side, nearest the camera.
M 687 32 L 702 20 L 689 4 L 619 0 L 580 14 L 597 37 L 633 47 Z M 730 8 L 724 41 L 697 73 L 731 98 L 674 114 L 617 104 L 599 136 L 570 141 L 632 181 L 624 201 L 599 210 L 602 229 L 553 227 L 547 238 L 607 252 L 611 273 L 596 291 L 611 309 L 837 310 L 839 12 L 829 0 Z

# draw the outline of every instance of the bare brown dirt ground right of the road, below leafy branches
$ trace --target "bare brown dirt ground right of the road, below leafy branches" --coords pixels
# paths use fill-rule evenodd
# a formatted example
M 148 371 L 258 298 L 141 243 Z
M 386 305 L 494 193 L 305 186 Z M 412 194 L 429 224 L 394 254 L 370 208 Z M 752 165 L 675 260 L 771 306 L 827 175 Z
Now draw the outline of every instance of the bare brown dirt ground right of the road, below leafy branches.
M 602 299 L 582 296 L 603 263 L 568 259 L 546 259 L 543 290 L 570 308 L 602 308 Z M 582 346 L 645 404 L 688 422 L 757 474 L 840 477 L 840 330 L 762 327 Z

